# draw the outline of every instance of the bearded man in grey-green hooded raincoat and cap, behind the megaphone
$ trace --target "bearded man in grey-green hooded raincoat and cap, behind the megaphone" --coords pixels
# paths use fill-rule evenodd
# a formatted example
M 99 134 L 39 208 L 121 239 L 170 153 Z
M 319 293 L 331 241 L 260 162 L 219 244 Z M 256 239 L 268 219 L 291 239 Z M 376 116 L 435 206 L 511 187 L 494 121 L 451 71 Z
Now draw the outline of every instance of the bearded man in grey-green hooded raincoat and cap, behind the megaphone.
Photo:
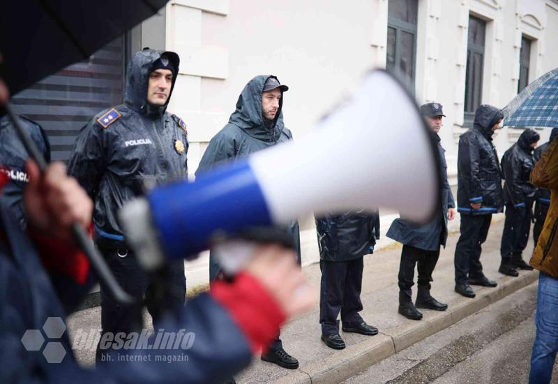
M 292 140 L 292 133 L 285 127 L 282 114 L 283 96 L 288 89 L 289 87 L 280 84 L 278 78 L 273 75 L 252 78 L 236 101 L 236 110 L 230 116 L 228 124 L 209 142 L 196 175 L 227 161 L 244 158 L 254 152 Z M 273 173 L 273 169 L 269 172 Z M 285 230 L 293 237 L 300 264 L 299 223 L 293 221 Z M 220 266 L 213 252 L 210 252 L 209 279 L 214 281 L 220 275 Z M 299 367 L 298 360 L 282 348 L 279 335 L 270 346 L 269 353 L 262 355 L 262 360 L 287 369 Z

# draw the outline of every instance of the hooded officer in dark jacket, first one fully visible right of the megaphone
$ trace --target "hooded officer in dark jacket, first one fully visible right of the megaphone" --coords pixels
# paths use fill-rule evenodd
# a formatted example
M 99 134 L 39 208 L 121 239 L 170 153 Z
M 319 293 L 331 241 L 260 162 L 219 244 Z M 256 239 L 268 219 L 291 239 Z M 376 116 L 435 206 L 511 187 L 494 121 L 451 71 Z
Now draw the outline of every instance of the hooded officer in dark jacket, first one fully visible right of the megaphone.
M 502 170 L 492 135 L 500 128 L 504 115 L 492 105 L 480 105 L 472 128 L 459 138 L 458 212 L 460 237 L 455 246 L 455 292 L 475 297 L 469 286 L 495 287 L 497 283 L 483 274 L 482 244 L 490 228 L 492 214 L 502 212 Z

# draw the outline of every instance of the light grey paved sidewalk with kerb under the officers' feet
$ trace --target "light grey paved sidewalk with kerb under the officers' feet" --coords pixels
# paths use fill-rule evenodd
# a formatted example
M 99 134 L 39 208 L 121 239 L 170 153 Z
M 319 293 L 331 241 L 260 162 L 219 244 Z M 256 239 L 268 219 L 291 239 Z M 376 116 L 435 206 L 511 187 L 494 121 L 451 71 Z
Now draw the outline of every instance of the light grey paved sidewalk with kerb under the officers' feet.
M 502 216 L 499 215 L 497 219 L 502 219 Z M 441 253 L 433 275 L 435 282 L 432 288 L 432 294 L 439 301 L 447 302 L 450 308 L 446 312 L 425 311 L 425 317 L 418 322 L 407 320 L 397 313 L 397 273 L 400 246 L 388 246 L 372 256 L 366 256 L 363 273 L 364 310 L 362 315 L 368 323 L 379 328 L 380 334 L 375 337 L 342 334 L 347 348 L 341 351 L 327 348 L 319 339 L 317 307 L 319 266 L 305 267 L 304 272 L 315 293 L 315 308 L 310 313 L 295 318 L 282 330 L 285 350 L 299 359 L 301 368 L 289 371 L 255 359 L 250 368 L 239 374 L 236 380 L 239 383 L 264 383 L 280 380 L 292 384 L 293 382 L 310 382 L 311 377 L 312 382 L 339 382 L 531 283 L 536 279 L 534 272 L 521 272 L 518 278 L 503 276 L 497 272 L 502 227 L 503 221 L 501 220 L 492 224 L 481 258 L 485 274 L 492 279 L 497 279 L 499 287 L 476 288 L 477 298 L 474 300 L 461 297 L 453 292 L 453 251 L 458 239 L 458 235 L 454 233 L 448 239 L 448 247 Z M 530 243 L 525 255 L 530 255 L 531 250 L 532 244 Z M 75 313 L 69 319 L 68 324 L 70 335 L 77 328 L 83 330 L 100 328 L 99 310 L 93 308 Z M 83 364 L 93 363 L 92 351 L 76 350 L 75 352 Z

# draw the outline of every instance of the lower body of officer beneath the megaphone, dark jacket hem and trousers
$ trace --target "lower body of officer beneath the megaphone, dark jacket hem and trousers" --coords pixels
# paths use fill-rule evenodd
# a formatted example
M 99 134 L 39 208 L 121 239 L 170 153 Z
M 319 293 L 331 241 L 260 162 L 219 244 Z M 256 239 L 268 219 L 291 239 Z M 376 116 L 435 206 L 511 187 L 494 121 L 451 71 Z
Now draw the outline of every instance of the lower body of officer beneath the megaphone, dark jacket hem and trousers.
M 339 313 L 343 332 L 373 336 L 376 327 L 365 323 L 361 289 L 363 256 L 374 251 L 379 239 L 379 215 L 368 212 L 326 214 L 316 219 L 319 269 L 322 282 L 319 294 L 319 323 L 322 341 L 333 349 L 345 348 L 339 335 Z

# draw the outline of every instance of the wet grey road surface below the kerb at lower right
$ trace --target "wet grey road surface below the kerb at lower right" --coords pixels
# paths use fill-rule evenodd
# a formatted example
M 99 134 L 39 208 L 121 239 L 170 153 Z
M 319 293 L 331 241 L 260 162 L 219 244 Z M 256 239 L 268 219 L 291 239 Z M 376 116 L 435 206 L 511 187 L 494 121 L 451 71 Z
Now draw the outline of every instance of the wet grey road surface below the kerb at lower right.
M 536 288 L 531 283 L 344 383 L 527 383 Z

